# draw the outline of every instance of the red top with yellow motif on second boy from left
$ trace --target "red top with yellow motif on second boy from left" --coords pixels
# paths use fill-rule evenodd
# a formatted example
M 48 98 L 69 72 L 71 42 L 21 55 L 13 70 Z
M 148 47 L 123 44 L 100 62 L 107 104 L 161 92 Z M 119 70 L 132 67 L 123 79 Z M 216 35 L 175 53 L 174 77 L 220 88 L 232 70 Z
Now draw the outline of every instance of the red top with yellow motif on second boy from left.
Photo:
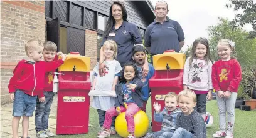
M 55 58 L 53 59 L 53 61 L 57 61 L 57 60 L 58 60 L 58 56 L 56 55 Z M 50 72 L 46 72 L 45 88 L 43 89 L 43 91 L 45 91 L 45 92 L 53 91 L 53 77 L 55 76 L 55 74 L 54 74 L 55 71 L 56 71 L 56 69 L 53 69 Z

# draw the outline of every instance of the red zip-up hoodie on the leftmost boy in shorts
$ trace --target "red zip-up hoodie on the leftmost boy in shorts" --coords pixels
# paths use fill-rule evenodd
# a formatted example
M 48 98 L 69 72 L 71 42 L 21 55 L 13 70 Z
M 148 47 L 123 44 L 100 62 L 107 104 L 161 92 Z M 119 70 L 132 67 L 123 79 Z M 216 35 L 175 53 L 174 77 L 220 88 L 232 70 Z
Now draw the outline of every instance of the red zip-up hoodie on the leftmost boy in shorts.
M 9 93 L 20 89 L 30 96 L 44 97 L 45 72 L 52 71 L 63 64 L 62 59 L 58 61 L 31 62 L 21 60 L 13 70 L 13 77 L 9 81 Z

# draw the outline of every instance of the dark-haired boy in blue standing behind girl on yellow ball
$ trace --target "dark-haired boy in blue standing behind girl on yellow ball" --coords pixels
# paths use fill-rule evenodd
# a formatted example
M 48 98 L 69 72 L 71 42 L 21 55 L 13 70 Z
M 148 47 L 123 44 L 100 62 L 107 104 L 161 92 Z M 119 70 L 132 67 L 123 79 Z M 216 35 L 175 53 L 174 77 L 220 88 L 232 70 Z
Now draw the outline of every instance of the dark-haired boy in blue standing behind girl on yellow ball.
M 144 62 L 146 60 L 146 49 L 141 44 L 138 44 L 133 47 L 132 49 L 132 59 L 135 62 L 135 65 L 137 66 L 137 69 L 139 71 L 139 78 L 142 79 L 144 82 L 144 86 L 142 87 L 142 100 L 143 100 L 143 107 L 142 111 L 146 112 L 146 105 L 147 100 L 149 99 L 149 79 L 154 75 L 155 69 L 152 64 L 149 63 L 149 73 L 145 78 L 142 78 L 142 66 L 144 65 Z

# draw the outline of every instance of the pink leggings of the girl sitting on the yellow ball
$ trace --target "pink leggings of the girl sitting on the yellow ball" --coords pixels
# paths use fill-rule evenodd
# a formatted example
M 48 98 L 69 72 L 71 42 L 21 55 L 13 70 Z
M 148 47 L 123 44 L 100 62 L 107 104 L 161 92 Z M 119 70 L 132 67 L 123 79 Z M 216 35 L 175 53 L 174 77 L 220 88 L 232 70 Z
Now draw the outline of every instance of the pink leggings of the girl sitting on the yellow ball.
M 121 112 L 125 112 L 125 119 L 127 122 L 128 132 L 134 132 L 134 115 L 140 110 L 140 108 L 135 103 L 127 103 L 127 109 L 125 107 L 120 107 Z M 126 110 L 126 111 L 125 111 Z M 107 110 L 105 115 L 105 121 L 103 127 L 105 129 L 110 129 L 112 117 L 117 116 L 115 107 Z

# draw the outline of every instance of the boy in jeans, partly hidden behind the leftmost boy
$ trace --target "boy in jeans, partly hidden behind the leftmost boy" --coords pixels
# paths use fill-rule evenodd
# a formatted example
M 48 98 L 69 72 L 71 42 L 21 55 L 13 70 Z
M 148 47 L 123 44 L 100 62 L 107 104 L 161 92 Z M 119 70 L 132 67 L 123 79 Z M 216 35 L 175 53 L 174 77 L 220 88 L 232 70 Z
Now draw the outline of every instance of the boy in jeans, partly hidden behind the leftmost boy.
M 43 48 L 43 61 L 51 62 L 57 61 L 58 55 L 63 55 L 62 52 L 57 51 L 57 46 L 54 42 L 46 41 Z M 49 114 L 51 111 L 51 104 L 53 103 L 53 76 L 56 69 L 45 74 L 45 89 L 43 94 L 45 95 L 45 102 L 40 102 L 39 98 L 36 102 L 36 114 L 35 114 L 35 125 L 36 125 L 36 138 L 45 138 L 54 136 L 48 129 Z

